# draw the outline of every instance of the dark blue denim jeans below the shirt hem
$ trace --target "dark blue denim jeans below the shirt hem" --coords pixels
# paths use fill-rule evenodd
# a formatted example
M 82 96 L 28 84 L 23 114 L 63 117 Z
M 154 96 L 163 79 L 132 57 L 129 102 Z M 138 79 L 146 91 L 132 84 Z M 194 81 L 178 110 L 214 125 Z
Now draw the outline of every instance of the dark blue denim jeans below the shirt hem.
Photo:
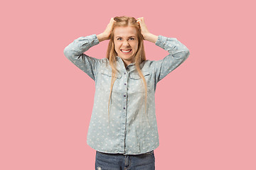
M 145 154 L 106 154 L 96 152 L 95 170 L 154 170 L 154 151 Z

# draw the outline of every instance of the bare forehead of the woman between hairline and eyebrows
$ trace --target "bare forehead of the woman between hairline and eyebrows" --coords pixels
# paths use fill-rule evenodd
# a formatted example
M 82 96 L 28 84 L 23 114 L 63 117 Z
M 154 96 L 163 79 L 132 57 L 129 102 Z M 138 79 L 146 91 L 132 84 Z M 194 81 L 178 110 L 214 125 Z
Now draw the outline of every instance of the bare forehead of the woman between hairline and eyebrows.
M 114 28 L 114 37 L 130 37 L 130 36 L 137 36 L 137 30 L 131 26 L 117 26 Z

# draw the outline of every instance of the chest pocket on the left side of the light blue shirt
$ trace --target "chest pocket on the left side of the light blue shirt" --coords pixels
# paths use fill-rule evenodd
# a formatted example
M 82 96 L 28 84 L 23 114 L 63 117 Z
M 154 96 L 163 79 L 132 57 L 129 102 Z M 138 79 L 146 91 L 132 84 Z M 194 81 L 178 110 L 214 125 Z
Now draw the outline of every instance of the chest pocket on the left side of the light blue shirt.
M 122 89 L 120 86 L 120 79 L 121 79 L 122 75 L 117 72 L 115 77 L 117 79 L 114 81 L 114 86 L 113 86 L 112 91 L 113 92 L 121 92 Z M 109 93 L 110 87 L 111 87 L 111 78 L 112 78 L 112 70 L 109 70 L 109 69 L 100 70 L 100 79 L 99 79 L 100 89 Z

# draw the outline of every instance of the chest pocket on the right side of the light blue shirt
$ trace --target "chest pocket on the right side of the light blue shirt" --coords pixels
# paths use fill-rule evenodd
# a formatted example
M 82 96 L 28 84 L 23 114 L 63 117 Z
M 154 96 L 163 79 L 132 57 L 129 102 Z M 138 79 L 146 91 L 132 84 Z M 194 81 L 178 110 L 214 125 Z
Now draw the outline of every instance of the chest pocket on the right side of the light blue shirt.
M 144 75 L 144 78 L 146 80 L 146 86 L 147 86 L 147 91 L 150 91 L 149 87 L 149 79 L 151 75 L 149 72 L 142 72 Z M 130 93 L 144 93 L 144 83 L 141 77 L 139 77 L 138 73 L 131 73 L 129 74 L 129 83 L 128 83 L 128 91 Z

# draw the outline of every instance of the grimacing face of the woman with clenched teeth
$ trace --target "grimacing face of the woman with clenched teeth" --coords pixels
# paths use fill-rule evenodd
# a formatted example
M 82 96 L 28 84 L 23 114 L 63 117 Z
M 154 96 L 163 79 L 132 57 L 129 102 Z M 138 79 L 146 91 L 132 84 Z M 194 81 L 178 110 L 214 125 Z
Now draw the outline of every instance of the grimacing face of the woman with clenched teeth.
M 136 28 L 131 26 L 117 26 L 114 28 L 114 50 L 117 52 L 117 56 L 122 58 L 125 66 L 134 62 L 138 45 Z

